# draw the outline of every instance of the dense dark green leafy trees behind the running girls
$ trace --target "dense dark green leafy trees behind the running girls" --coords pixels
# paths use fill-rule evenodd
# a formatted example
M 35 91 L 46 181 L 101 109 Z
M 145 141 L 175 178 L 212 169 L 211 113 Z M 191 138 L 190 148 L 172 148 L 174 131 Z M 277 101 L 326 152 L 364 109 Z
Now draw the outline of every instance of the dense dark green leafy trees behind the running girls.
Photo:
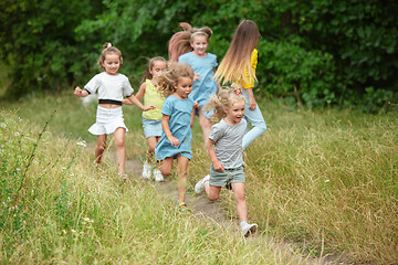
M 213 30 L 220 62 L 243 19 L 259 25 L 256 93 L 307 107 L 388 110 L 398 91 L 394 0 L 4 0 L 0 59 L 7 97 L 84 85 L 104 42 L 124 55 L 137 87 L 146 59 L 167 57 L 179 22 Z

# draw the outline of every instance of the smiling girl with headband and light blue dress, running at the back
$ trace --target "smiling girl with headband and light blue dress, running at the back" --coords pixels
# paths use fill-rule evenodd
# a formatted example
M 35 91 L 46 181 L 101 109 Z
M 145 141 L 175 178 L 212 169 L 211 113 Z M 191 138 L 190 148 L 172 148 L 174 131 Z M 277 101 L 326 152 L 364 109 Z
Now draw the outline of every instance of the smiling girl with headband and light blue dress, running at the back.
M 208 26 L 192 28 L 188 23 L 180 23 L 185 30 L 175 33 L 169 41 L 169 61 L 188 63 L 195 71 L 193 89 L 189 95 L 196 103 L 191 116 L 193 126 L 195 114 L 198 112 L 199 125 L 203 131 L 205 141 L 209 137 L 211 123 L 210 114 L 202 107 L 217 93 L 217 83 L 212 78 L 216 72 L 217 56 L 206 52 L 212 31 Z

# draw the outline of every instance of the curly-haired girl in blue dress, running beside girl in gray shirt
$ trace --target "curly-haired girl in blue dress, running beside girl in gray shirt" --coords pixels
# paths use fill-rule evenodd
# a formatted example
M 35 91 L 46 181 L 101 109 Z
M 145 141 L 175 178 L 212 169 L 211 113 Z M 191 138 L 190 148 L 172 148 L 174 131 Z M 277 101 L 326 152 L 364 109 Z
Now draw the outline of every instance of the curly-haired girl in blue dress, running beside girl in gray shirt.
M 154 84 L 166 97 L 161 108 L 161 138 L 155 149 L 155 157 L 161 161 L 160 171 L 164 176 L 171 173 L 174 159 L 177 159 L 178 203 L 187 208 L 187 169 L 192 158 L 190 115 L 193 100 L 188 96 L 192 91 L 193 70 L 188 64 L 176 63 L 154 78 Z

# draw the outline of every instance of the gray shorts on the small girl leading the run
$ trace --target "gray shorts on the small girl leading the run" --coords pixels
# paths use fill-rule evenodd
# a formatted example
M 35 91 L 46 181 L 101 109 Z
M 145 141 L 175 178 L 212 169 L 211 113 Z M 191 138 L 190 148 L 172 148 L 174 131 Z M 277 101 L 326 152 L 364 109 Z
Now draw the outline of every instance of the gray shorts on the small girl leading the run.
M 224 187 L 230 183 L 244 183 L 243 167 L 235 169 L 226 169 L 223 171 L 216 171 L 213 166 L 210 167 L 210 186 Z

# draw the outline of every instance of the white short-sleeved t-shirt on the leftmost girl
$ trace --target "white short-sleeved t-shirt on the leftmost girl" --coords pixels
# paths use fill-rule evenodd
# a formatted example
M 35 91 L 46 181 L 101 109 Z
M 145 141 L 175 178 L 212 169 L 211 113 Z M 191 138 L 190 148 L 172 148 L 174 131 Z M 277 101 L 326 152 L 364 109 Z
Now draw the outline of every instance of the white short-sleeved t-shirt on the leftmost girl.
M 134 89 L 124 74 L 109 75 L 106 72 L 96 74 L 84 86 L 88 93 L 98 91 L 98 99 L 112 99 L 122 102 L 124 97 L 133 95 Z

